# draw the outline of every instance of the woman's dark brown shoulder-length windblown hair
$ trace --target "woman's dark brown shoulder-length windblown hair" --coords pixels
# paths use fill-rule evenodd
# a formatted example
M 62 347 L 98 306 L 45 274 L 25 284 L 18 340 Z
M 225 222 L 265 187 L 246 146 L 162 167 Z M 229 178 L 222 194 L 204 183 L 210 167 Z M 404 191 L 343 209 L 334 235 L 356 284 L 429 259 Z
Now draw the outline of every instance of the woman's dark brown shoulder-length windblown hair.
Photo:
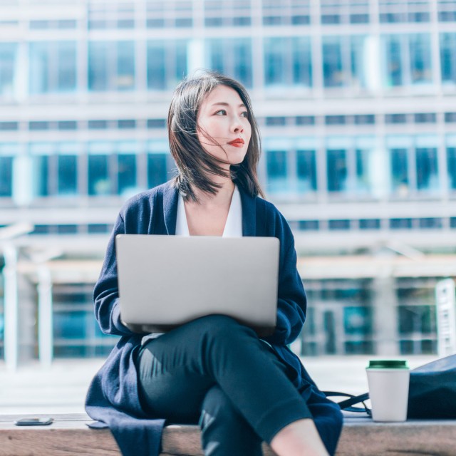
M 247 118 L 252 127 L 252 136 L 244 160 L 239 165 L 231 165 L 229 175 L 221 166 L 224 162 L 207 153 L 197 135 L 199 108 L 204 98 L 217 86 L 227 86 L 237 91 L 247 109 Z M 212 195 L 217 194 L 221 185 L 212 182 L 210 175 L 230 177 L 250 195 L 264 197 L 257 177 L 257 165 L 261 155 L 259 128 L 252 113 L 249 94 L 242 84 L 214 71 L 199 71 L 195 76 L 185 78 L 172 95 L 167 126 L 170 151 L 178 172 L 174 184 L 186 200 L 197 201 L 192 187 Z

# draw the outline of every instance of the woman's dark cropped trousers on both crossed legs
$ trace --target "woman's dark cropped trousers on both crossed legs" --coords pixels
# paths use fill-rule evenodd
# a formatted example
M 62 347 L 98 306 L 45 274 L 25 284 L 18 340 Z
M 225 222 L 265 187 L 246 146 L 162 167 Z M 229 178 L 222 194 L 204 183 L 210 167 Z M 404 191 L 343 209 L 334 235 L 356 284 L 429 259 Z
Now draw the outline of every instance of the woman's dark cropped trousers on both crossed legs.
M 198 423 L 206 456 L 260 456 L 282 427 L 311 418 L 287 368 L 256 333 L 206 316 L 145 344 L 140 400 L 153 416 Z

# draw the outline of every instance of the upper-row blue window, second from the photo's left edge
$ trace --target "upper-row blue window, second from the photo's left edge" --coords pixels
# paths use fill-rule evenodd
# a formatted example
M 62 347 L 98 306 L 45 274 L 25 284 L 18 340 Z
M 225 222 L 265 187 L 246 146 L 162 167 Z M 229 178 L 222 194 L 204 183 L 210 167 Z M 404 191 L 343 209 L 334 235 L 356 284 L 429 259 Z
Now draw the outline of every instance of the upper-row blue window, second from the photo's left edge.
M 29 45 L 30 93 L 76 90 L 76 42 L 37 41 Z

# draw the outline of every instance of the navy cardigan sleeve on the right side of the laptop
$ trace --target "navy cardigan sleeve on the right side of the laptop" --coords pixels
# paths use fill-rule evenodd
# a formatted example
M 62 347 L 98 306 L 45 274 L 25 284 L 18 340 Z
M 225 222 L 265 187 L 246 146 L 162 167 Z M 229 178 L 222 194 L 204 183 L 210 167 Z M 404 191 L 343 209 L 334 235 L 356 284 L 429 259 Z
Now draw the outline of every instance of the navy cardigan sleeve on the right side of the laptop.
M 289 224 L 280 217 L 279 287 L 276 330 L 264 338 L 271 344 L 288 345 L 301 332 L 306 319 L 306 292 L 296 266 L 294 238 Z

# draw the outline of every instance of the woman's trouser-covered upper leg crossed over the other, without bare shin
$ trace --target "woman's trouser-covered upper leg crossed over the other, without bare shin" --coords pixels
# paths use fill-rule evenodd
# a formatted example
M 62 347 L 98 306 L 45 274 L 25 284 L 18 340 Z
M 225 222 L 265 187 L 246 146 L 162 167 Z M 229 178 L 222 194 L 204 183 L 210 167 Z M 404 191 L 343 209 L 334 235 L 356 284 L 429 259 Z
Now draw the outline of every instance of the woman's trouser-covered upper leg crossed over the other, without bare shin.
M 199 318 L 142 351 L 140 394 L 152 415 L 195 420 L 216 384 L 266 442 L 286 425 L 311 418 L 284 366 L 252 329 L 232 318 Z

